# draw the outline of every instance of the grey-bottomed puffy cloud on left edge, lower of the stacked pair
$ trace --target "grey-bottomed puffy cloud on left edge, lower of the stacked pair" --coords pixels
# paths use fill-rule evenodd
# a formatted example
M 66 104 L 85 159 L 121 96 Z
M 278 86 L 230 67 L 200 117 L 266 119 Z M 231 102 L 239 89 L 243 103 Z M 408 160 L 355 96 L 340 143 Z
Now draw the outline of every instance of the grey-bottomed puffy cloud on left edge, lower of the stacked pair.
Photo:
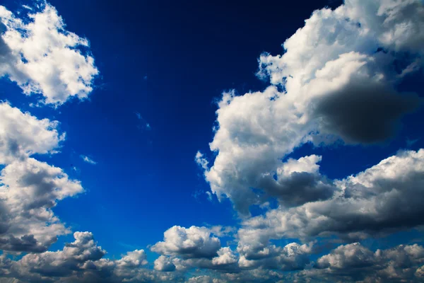
M 83 191 L 61 168 L 26 158 L 0 175 L 0 248 L 16 252 L 47 250 L 69 233 L 52 212 L 58 200 Z

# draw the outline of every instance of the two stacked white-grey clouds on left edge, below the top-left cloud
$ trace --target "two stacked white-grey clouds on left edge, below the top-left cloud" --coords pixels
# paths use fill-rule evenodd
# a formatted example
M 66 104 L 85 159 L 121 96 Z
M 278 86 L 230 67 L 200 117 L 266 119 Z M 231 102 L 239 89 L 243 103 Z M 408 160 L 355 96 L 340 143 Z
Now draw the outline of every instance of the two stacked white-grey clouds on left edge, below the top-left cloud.
M 77 180 L 54 166 L 31 158 L 57 151 L 64 134 L 57 121 L 39 120 L 0 103 L 0 249 L 47 250 L 57 236 L 69 233 L 52 212 L 57 201 L 83 191 Z

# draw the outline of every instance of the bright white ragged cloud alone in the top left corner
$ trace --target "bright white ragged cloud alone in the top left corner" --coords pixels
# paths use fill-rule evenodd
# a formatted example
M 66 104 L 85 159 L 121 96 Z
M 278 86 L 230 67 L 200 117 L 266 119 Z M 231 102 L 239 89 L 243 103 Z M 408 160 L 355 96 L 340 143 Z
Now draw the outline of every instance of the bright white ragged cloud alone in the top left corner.
M 87 98 L 98 74 L 93 57 L 84 51 L 88 40 L 67 31 L 53 6 L 42 6 L 28 14 L 30 21 L 0 6 L 0 76 L 28 95 L 40 93 L 45 103 Z

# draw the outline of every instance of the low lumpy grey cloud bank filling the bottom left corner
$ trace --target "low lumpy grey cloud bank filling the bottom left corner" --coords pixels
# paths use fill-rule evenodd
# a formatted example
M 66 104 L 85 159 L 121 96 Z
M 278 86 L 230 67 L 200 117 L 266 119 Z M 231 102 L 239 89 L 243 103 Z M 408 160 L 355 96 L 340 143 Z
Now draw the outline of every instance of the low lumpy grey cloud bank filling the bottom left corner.
M 106 252 L 92 233 L 76 232 L 73 236 L 73 243 L 56 252 L 30 253 L 16 261 L 1 256 L 1 277 L 10 282 L 182 282 L 177 274 L 144 268 L 148 263 L 144 250 L 109 260 L 103 258 Z

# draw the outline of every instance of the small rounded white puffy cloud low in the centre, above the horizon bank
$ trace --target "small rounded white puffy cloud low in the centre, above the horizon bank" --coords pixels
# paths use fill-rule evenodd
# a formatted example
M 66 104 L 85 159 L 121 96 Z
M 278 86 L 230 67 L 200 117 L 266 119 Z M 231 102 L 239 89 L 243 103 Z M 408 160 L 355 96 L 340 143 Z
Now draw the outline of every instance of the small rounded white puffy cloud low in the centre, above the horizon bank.
M 206 227 L 173 226 L 164 233 L 164 241 L 151 247 L 155 253 L 182 258 L 213 258 L 220 248 L 218 238 Z

